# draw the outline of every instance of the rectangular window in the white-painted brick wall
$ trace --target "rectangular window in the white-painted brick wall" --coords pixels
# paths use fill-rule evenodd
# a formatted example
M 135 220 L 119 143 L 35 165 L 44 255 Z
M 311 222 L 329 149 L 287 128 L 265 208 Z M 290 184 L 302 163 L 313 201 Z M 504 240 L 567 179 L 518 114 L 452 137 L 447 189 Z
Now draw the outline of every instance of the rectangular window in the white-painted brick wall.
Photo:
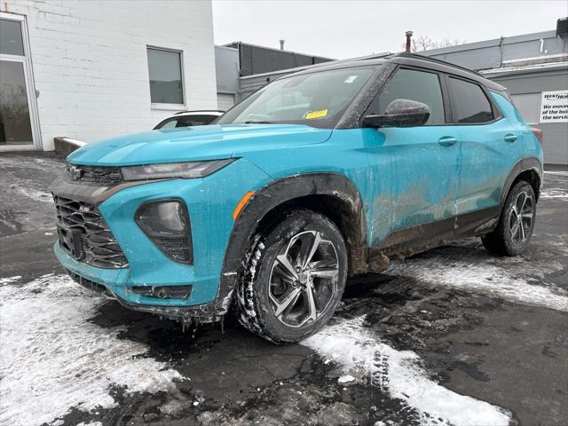
M 153 104 L 184 104 L 181 51 L 148 47 L 150 99 Z

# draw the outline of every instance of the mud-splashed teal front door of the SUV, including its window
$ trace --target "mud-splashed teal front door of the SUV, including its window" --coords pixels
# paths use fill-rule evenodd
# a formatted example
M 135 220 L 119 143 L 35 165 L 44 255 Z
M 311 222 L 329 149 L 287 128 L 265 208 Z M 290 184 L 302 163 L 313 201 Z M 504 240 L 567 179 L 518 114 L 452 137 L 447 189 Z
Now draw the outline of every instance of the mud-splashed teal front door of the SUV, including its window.
M 442 76 L 436 72 L 398 68 L 366 112 L 384 114 L 395 99 L 416 100 L 430 107 L 430 119 L 423 126 L 381 128 L 375 133 L 375 138 L 382 140 L 379 144 L 383 146 L 382 153 L 389 153 L 393 162 L 393 232 L 443 219 L 450 219 L 444 222 L 448 229 L 438 227 L 437 233 L 453 229 L 460 169 L 459 140 L 454 126 L 447 125 L 449 106 L 442 84 Z M 381 161 L 373 154 L 369 158 L 371 166 Z M 381 214 L 381 209 L 375 209 L 376 214 Z M 384 218 L 374 217 L 374 223 L 384 223 Z M 420 235 L 411 231 L 402 239 L 408 241 L 414 237 Z M 380 242 L 377 240 L 382 239 L 374 242 Z M 397 241 L 401 242 L 400 238 Z

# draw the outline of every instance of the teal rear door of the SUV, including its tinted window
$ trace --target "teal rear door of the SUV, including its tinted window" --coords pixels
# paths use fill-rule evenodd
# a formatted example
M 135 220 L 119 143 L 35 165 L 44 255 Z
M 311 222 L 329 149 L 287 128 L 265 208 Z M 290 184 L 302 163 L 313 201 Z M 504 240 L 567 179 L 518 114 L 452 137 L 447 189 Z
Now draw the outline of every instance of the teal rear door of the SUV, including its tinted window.
M 454 125 L 461 140 L 456 228 L 499 210 L 501 188 L 522 153 L 522 138 L 478 83 L 447 76 Z

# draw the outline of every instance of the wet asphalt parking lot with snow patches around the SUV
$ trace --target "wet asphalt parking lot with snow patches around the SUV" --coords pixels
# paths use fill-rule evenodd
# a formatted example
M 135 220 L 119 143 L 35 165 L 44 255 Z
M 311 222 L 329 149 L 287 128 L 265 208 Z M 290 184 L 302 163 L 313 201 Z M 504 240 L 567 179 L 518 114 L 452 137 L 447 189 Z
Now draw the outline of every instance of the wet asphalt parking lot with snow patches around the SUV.
M 182 331 L 80 288 L 52 254 L 55 154 L 0 156 L 0 423 L 561 425 L 568 419 L 568 171 L 532 244 L 477 239 L 351 280 L 335 318 L 276 346 Z

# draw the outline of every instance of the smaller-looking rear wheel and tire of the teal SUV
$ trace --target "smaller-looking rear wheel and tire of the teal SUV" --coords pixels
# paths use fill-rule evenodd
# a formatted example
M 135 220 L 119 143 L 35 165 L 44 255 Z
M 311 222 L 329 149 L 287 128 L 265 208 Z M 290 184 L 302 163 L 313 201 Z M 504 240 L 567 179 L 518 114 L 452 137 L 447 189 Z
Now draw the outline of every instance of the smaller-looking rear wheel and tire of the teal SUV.
M 517 216 L 519 211 L 520 217 Z M 521 254 L 531 241 L 535 217 L 536 197 L 533 186 L 525 180 L 520 180 L 509 191 L 499 224 L 492 233 L 482 237 L 484 247 L 500 256 Z

